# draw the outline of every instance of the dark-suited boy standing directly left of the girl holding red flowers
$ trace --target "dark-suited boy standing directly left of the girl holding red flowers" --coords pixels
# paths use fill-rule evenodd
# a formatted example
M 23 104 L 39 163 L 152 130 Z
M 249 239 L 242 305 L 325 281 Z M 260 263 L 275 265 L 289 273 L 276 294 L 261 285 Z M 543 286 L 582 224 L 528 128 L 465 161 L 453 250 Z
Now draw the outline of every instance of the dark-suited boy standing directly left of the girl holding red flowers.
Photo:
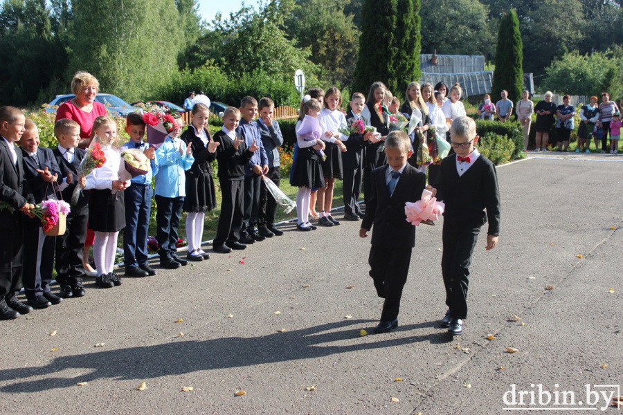
M 81 182 L 84 187 L 86 184 L 84 177 L 78 177 L 78 167 L 85 154 L 83 149 L 78 148 L 80 125 L 67 118 L 58 120 L 54 125 L 54 135 L 58 140 L 53 153 L 60 169 L 60 196 L 65 201 L 71 201 L 76 185 Z M 67 215 L 65 234 L 56 237 L 56 280 L 61 287 L 60 295 L 64 298 L 83 297 L 85 294 L 82 286 L 82 252 L 87 239 L 88 202 L 87 196 L 81 193 L 78 202 L 71 206 L 71 212 Z

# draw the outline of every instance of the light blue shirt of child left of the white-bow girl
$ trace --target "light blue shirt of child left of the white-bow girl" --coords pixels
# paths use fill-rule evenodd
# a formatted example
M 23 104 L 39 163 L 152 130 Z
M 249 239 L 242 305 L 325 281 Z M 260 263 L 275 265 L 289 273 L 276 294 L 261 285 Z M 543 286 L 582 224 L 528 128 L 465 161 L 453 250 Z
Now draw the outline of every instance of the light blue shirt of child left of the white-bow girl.
M 184 148 L 183 156 L 179 147 Z M 156 150 L 159 171 L 156 174 L 156 194 L 163 197 L 186 196 L 186 170 L 190 169 L 195 158 L 186 154 L 186 145 L 179 138 L 167 137 Z

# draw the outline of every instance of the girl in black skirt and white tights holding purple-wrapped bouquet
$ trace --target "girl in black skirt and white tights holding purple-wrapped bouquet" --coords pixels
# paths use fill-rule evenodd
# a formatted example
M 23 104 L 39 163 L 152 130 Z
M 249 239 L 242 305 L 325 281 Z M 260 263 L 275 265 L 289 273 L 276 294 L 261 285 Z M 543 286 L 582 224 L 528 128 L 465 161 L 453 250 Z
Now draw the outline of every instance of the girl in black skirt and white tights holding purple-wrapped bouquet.
M 325 143 L 320 139 L 322 133 L 318 125 L 318 131 L 310 131 L 303 135 L 303 120 L 305 117 L 318 118 L 320 116 L 320 102 L 309 95 L 303 98 L 298 111 L 298 122 L 296 123 L 296 145 L 298 152 L 292 163 L 290 173 L 290 185 L 298 187 L 296 194 L 296 216 L 298 217 L 296 228 L 301 231 L 315 230 L 316 226 L 309 223 L 309 198 L 311 189 L 325 187 L 323 177 L 323 167 L 320 165 L 320 154 L 318 151 L 325 149 Z M 299 133 L 300 132 L 300 133 Z M 318 138 L 309 138 L 313 136 Z

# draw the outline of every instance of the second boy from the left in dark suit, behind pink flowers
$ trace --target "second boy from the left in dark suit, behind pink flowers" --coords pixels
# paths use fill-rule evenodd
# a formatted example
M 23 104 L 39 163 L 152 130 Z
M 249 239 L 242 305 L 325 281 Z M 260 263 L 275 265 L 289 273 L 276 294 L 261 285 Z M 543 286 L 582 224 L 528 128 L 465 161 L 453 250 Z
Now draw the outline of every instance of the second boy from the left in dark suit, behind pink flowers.
M 32 192 L 35 203 L 54 196 L 55 182 L 60 171 L 51 149 L 39 147 L 39 129 L 32 120 L 26 120 L 19 147 L 24 160 L 24 181 Z M 37 218 L 24 220 L 24 267 L 21 281 L 26 300 L 33 308 L 46 308 L 62 301 L 50 290 L 54 266 L 55 237 L 46 236 Z

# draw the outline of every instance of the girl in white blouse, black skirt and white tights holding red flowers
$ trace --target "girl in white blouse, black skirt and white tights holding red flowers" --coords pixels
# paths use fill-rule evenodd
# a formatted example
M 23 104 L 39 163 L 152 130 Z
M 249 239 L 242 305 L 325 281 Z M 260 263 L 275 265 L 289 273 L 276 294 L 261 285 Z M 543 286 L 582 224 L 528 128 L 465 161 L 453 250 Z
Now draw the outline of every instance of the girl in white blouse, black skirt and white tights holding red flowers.
M 121 163 L 117 125 L 114 120 L 108 116 L 96 118 L 93 131 L 95 136 L 91 147 L 99 145 L 106 161 L 101 167 L 94 168 L 87 174 L 84 189 L 91 190 L 89 228 L 95 232 L 93 259 L 98 269 L 96 284 L 102 288 L 111 288 L 121 285 L 121 279 L 113 273 L 113 267 L 119 231 L 125 228 L 123 190 L 130 185 L 130 181 Z M 89 157 L 85 157 L 84 160 L 89 160 Z M 122 178 L 119 177 L 120 171 L 123 172 Z

